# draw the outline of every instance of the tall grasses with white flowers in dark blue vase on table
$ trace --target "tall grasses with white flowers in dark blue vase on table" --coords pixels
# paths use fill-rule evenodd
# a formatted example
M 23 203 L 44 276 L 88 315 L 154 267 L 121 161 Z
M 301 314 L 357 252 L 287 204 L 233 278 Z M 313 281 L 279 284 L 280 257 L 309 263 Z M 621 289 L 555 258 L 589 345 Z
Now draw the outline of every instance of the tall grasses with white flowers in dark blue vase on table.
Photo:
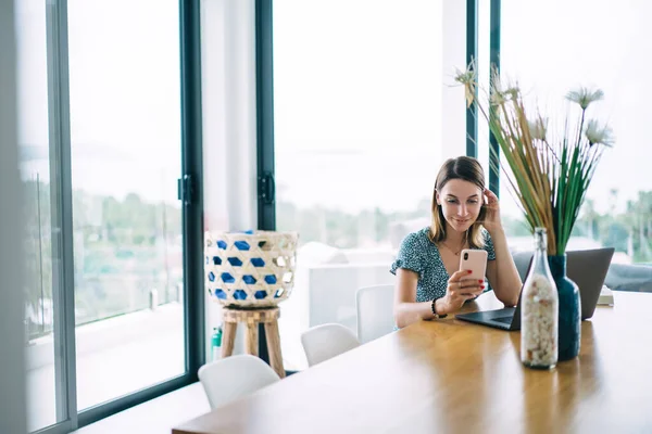
M 575 111 L 567 112 L 562 123 L 549 123 L 538 110 L 526 108 L 518 86 L 505 84 L 496 67 L 482 98 L 473 62 L 457 72 L 455 80 L 465 88 L 467 106 L 477 106 L 502 151 L 500 167 L 492 169 L 502 169 L 530 231 L 546 228 L 548 263 L 559 292 L 559 360 L 572 359 L 579 353 L 580 301 L 577 285 L 566 277 L 565 252 L 600 158 L 613 145 L 611 128 L 588 112 L 603 92 L 569 91 L 566 100 Z

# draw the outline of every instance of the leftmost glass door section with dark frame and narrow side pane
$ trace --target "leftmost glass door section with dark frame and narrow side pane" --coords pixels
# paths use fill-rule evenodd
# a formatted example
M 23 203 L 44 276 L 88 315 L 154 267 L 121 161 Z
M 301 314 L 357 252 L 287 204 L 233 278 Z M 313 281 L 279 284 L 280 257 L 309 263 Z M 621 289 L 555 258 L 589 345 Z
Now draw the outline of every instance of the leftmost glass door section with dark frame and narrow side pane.
M 30 432 L 196 380 L 201 201 L 178 180 L 201 179 L 198 10 L 16 2 Z

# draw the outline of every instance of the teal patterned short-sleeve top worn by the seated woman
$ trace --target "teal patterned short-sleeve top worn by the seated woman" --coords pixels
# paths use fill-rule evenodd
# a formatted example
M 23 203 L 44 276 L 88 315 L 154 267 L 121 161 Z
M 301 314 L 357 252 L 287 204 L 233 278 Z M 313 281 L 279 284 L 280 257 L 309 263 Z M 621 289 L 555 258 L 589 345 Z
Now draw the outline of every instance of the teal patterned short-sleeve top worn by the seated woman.
M 397 273 L 397 269 L 404 268 L 418 273 L 418 282 L 416 284 L 416 302 L 430 302 L 435 298 L 441 298 L 446 295 L 448 280 L 450 276 L 441 260 L 439 248 L 428 238 L 429 227 L 425 227 L 416 232 L 409 233 L 401 243 L 397 259 L 390 268 L 392 275 Z M 493 242 L 486 229 L 482 229 L 485 237 L 485 247 L 487 251 L 487 259 L 496 260 L 496 251 Z M 491 291 L 491 286 L 487 284 L 485 292 Z

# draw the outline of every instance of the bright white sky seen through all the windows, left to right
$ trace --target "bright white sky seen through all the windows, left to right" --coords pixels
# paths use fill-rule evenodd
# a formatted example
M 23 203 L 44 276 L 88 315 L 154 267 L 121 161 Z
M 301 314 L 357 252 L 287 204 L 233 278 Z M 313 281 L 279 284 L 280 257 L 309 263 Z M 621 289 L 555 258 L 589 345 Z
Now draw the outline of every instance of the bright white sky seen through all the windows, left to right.
M 180 167 L 176 1 L 70 0 L 73 186 L 175 201 Z M 553 118 L 578 85 L 604 90 L 594 115 L 616 145 L 589 195 L 599 210 L 652 190 L 647 85 L 652 38 L 639 1 L 502 1 L 502 71 Z M 125 10 L 130 12 L 124 13 Z M 480 1 L 480 54 L 488 0 Z M 48 175 L 45 7 L 17 2 L 20 137 L 24 177 Z M 536 17 L 536 20 L 532 20 Z M 355 213 L 410 210 L 430 197 L 441 164 L 441 2 L 274 2 L 276 178 L 280 200 Z M 116 25 L 120 23 L 120 25 Z M 552 25 L 554 23 L 554 25 Z M 647 36 L 648 35 L 648 36 Z M 480 58 L 482 61 L 482 58 Z M 460 65 L 463 67 L 464 65 Z M 482 140 L 480 130 L 480 140 Z M 486 162 L 484 150 L 480 152 Z M 485 166 L 486 163 L 485 163 Z M 502 191 L 503 197 L 509 197 Z M 504 200 L 503 208 L 516 208 Z

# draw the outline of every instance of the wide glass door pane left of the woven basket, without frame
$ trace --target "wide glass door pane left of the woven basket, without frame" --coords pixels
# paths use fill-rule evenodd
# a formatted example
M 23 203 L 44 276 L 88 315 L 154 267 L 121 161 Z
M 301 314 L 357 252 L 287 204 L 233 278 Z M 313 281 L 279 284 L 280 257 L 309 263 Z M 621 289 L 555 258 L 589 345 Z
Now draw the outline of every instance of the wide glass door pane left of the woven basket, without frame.
M 68 1 L 79 410 L 186 371 L 178 22 Z

